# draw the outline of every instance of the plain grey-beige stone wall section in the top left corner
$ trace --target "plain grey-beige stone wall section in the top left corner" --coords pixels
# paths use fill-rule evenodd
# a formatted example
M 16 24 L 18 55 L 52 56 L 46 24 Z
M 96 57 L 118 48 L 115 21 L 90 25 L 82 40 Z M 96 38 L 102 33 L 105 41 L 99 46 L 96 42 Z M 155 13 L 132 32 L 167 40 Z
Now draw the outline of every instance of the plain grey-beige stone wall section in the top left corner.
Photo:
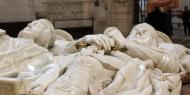
M 36 19 L 31 0 L 0 0 L 0 23 Z

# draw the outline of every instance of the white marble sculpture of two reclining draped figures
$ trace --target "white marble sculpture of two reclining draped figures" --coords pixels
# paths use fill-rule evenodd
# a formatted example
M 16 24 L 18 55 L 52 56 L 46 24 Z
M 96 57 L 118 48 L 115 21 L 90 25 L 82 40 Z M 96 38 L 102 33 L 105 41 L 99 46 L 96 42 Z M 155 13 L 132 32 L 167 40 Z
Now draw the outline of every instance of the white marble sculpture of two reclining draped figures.
M 142 23 L 78 40 L 35 20 L 17 38 L 0 30 L 0 95 L 181 95 L 190 50 Z

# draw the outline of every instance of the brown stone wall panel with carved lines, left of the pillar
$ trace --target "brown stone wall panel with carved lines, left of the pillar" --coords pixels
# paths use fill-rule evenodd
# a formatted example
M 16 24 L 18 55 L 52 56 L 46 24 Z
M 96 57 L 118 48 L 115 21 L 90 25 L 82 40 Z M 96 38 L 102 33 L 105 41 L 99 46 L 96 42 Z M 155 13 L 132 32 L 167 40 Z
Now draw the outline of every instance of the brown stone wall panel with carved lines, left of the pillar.
M 48 0 L 48 19 L 56 28 L 92 27 L 93 17 L 89 0 Z

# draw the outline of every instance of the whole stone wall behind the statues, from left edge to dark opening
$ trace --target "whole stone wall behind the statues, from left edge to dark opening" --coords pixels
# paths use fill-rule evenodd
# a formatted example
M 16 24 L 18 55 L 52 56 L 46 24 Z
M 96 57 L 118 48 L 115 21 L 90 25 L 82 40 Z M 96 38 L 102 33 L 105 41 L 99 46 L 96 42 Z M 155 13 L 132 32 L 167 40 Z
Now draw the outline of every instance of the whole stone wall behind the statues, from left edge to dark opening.
M 99 1 L 95 6 L 95 1 Z M 133 24 L 133 0 L 0 0 L 0 22 L 52 20 L 56 28 L 115 26 L 126 36 Z

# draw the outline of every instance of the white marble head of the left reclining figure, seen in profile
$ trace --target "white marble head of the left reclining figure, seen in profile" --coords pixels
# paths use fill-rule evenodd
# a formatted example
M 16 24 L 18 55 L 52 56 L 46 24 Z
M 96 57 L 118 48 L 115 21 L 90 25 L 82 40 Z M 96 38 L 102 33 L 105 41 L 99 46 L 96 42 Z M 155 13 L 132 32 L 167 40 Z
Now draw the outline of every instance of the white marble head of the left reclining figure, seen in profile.
M 32 39 L 43 47 L 51 47 L 55 41 L 55 33 L 52 23 L 46 19 L 35 20 L 27 25 L 19 33 L 19 37 Z

